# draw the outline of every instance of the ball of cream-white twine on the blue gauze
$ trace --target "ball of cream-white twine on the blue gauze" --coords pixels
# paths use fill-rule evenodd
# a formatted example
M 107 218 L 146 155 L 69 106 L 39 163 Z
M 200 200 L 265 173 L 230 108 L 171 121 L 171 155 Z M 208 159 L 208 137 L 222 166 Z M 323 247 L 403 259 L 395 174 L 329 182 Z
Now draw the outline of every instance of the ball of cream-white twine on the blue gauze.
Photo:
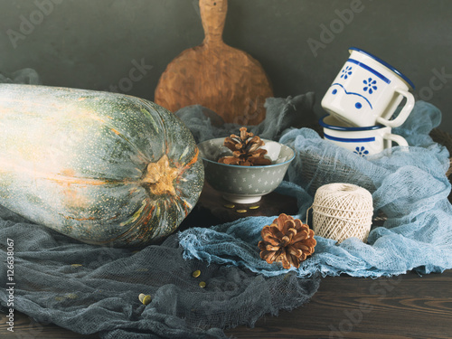
M 372 225 L 372 194 L 355 184 L 325 184 L 315 192 L 315 235 L 337 240 L 351 237 L 367 241 Z

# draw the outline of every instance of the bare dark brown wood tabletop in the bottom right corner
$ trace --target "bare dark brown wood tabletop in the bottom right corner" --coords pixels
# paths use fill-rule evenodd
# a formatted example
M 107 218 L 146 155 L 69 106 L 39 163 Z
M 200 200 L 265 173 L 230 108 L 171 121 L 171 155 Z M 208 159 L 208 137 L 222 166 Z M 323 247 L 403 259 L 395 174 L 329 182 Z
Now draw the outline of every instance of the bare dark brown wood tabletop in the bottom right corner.
M 234 338 L 450 338 L 452 270 L 419 277 L 325 278 L 306 306 L 260 319 Z

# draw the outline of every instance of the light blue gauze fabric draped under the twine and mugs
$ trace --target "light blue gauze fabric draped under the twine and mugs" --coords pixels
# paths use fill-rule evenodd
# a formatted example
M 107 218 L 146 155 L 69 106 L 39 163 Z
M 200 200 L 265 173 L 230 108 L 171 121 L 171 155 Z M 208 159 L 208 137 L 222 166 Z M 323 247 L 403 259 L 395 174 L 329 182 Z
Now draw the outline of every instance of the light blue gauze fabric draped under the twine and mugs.
M 382 227 L 372 227 L 368 243 L 356 238 L 337 244 L 315 236 L 315 254 L 295 270 L 299 277 L 346 273 L 353 277 L 392 276 L 415 269 L 419 273 L 452 268 L 452 208 L 445 146 L 428 133 L 438 127 L 441 112 L 423 101 L 410 118 L 392 133 L 405 137 L 409 152 L 399 146 L 363 158 L 322 139 L 309 128 L 286 131 L 279 142 L 296 150 L 278 193 L 297 197 L 296 218 L 306 221 L 306 210 L 322 184 L 359 184 L 372 193 L 375 216 L 384 213 Z M 190 121 L 187 122 L 190 126 Z M 209 136 L 224 137 L 224 136 Z M 198 141 L 203 141 L 200 138 Z M 250 268 L 267 277 L 287 273 L 280 264 L 259 258 L 260 231 L 277 216 L 249 217 L 179 234 L 184 258 Z

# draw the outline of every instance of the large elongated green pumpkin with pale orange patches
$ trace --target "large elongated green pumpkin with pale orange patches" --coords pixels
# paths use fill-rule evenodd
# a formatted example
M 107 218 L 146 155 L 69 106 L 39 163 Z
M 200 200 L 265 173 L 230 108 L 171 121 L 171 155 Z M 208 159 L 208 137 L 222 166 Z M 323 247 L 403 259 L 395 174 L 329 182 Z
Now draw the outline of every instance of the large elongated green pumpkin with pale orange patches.
M 0 204 L 93 244 L 141 246 L 192 210 L 203 167 L 190 131 L 145 99 L 0 85 Z

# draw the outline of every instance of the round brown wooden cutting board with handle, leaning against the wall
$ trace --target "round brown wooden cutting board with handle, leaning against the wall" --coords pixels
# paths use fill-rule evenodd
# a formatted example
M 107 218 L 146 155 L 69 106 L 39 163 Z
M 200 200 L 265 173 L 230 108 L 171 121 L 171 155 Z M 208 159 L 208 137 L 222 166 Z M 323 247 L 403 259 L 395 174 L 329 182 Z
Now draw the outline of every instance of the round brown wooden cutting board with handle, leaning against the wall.
M 268 76 L 250 54 L 222 41 L 227 0 L 200 0 L 199 5 L 204 40 L 168 64 L 155 103 L 173 112 L 200 104 L 226 122 L 258 124 L 265 118 L 265 99 L 273 97 Z

